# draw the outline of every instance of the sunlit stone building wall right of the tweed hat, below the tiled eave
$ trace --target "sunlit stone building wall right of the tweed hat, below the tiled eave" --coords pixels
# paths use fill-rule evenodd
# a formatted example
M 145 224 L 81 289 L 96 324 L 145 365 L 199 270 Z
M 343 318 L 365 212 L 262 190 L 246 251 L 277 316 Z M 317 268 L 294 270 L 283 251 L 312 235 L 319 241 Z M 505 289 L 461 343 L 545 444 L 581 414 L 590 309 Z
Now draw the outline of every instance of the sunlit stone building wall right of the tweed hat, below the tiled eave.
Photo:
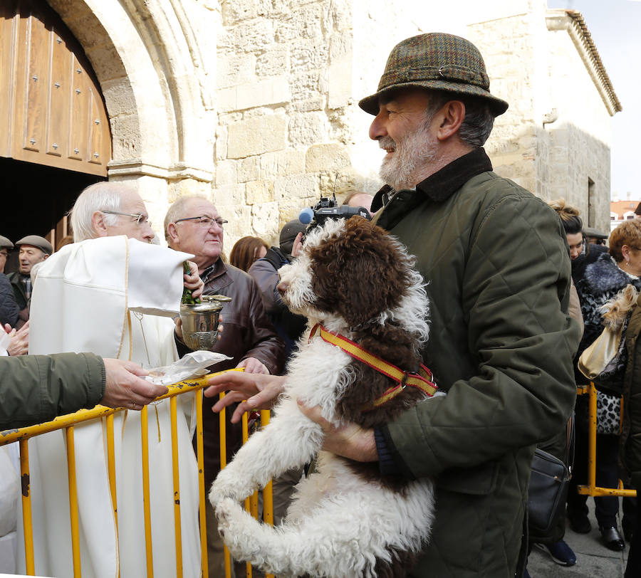
M 510 104 L 486 150 L 497 173 L 543 200 L 565 197 L 586 225 L 606 230 L 610 113 L 568 32 L 569 17 L 562 16 L 566 27 L 552 26 L 550 15 L 545 2 L 531 0 L 522 14 L 468 27 L 492 92 Z

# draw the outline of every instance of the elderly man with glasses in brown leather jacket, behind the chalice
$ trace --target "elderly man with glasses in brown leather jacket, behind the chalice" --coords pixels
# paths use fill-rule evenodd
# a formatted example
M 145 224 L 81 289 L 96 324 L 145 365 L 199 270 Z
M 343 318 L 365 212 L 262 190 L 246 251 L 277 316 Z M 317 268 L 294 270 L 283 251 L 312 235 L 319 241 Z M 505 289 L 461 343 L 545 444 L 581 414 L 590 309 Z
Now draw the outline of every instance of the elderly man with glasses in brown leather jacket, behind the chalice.
M 247 273 L 222 261 L 223 227 L 226 222 L 208 199 L 184 196 L 167 211 L 165 237 L 170 247 L 194 254 L 198 273 L 204 281 L 204 295 L 231 297 L 231 302 L 226 303 L 222 310 L 225 330 L 214 351 L 233 359 L 217 364 L 217 369 L 244 367 L 245 372 L 249 373 L 278 374 L 283 369 L 285 346 L 265 313 L 260 290 Z M 211 411 L 213 401 L 207 398 L 203 404 L 206 488 L 209 488 L 220 470 L 219 419 Z M 240 445 L 239 424 L 232 425 L 228 418 L 228 460 Z M 224 576 L 222 540 L 209 503 L 207 508 L 209 576 Z

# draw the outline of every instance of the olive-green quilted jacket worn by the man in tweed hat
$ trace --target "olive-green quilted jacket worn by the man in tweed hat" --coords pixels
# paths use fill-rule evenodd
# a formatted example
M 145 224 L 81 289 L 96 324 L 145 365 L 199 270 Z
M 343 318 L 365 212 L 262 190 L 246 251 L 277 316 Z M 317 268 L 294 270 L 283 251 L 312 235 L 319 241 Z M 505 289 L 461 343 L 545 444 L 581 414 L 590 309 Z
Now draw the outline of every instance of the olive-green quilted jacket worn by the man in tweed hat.
M 409 575 L 513 577 L 534 446 L 563 430 L 576 394 L 561 221 L 476 149 L 399 191 L 377 223 L 428 283 L 424 362 L 447 392 L 382 431 L 407 477 L 436 481 L 432 540 Z

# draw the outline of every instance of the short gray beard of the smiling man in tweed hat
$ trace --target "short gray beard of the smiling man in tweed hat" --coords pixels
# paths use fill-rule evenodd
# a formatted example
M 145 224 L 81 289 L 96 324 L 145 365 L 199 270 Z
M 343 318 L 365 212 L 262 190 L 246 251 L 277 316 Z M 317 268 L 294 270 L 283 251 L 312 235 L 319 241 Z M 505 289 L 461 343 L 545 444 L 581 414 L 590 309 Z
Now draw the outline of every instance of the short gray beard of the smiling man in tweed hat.
M 395 142 L 391 137 L 382 137 L 378 141 L 381 148 L 389 148 L 390 145 L 395 147 L 394 156 L 383 159 L 378 174 L 396 191 L 416 186 L 419 183 L 417 167 L 436 158 L 438 141 L 427 132 L 426 125 L 407 135 L 402 142 Z

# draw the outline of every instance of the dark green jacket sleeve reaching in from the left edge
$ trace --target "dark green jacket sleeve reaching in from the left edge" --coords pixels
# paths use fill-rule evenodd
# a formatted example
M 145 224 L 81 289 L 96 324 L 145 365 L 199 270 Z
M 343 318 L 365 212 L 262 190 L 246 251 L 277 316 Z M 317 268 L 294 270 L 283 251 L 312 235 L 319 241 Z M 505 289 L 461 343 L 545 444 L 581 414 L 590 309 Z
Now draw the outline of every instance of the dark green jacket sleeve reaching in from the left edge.
M 93 353 L 0 357 L 0 430 L 93 408 L 105 394 L 105 364 Z

